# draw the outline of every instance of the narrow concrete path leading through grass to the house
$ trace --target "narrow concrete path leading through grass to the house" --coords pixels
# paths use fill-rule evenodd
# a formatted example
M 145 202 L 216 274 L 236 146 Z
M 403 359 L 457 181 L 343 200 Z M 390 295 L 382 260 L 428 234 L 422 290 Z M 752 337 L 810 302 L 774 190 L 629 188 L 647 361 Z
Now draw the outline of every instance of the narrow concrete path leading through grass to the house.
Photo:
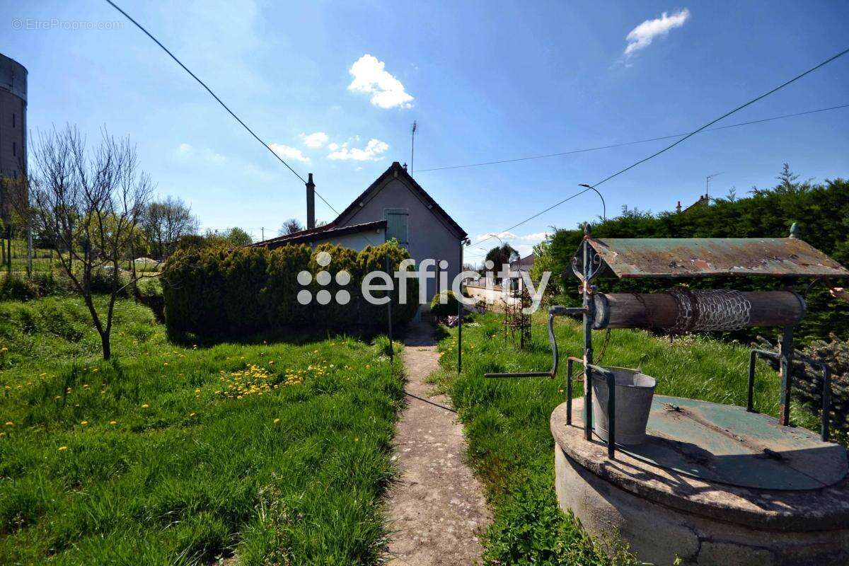
M 404 339 L 408 406 L 397 425 L 402 470 L 388 504 L 391 566 L 481 563 L 478 535 L 491 521 L 481 485 L 464 464 L 463 425 L 445 395 L 429 395 L 424 380 L 438 367 L 434 328 L 411 324 Z

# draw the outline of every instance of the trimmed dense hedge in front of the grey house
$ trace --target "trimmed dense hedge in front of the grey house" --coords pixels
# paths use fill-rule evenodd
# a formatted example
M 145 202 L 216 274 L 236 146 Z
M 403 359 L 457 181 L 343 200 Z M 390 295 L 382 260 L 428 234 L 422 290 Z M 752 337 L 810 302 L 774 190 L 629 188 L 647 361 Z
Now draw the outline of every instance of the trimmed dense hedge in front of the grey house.
M 319 266 L 317 257 L 326 251 L 329 266 Z M 162 295 L 166 325 L 171 331 L 199 335 L 233 335 L 280 328 L 349 328 L 351 325 L 383 326 L 386 305 L 371 305 L 361 293 L 363 277 L 384 269 L 389 256 L 393 270 L 408 259 L 406 249 L 393 242 L 353 249 L 321 244 L 315 249 L 289 245 L 278 249 L 260 247 L 239 249 L 183 249 L 166 261 L 162 268 Z M 412 268 L 411 268 L 412 269 Z M 330 283 L 320 285 L 318 272 L 328 271 Z M 351 281 L 340 285 L 336 274 L 346 271 Z M 301 285 L 298 273 L 309 272 L 311 282 Z M 312 301 L 301 305 L 301 290 L 312 294 Z M 350 301 L 340 305 L 336 293 L 346 290 Z M 318 303 L 318 291 L 327 290 L 331 300 Z M 398 305 L 398 290 L 392 294 L 393 322 L 406 322 L 418 306 L 419 286 L 408 278 L 408 301 Z M 385 296 L 375 292 L 374 296 Z

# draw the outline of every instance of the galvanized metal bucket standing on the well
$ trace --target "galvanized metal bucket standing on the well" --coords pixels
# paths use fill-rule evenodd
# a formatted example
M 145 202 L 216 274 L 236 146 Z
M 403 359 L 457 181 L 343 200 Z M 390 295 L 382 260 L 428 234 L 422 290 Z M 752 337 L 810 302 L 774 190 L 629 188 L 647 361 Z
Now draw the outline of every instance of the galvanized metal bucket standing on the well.
M 640 444 L 645 441 L 651 400 L 655 396 L 655 378 L 638 369 L 604 367 L 614 374 L 616 387 L 616 443 Z M 607 381 L 593 372 L 593 420 L 596 434 L 607 440 Z

